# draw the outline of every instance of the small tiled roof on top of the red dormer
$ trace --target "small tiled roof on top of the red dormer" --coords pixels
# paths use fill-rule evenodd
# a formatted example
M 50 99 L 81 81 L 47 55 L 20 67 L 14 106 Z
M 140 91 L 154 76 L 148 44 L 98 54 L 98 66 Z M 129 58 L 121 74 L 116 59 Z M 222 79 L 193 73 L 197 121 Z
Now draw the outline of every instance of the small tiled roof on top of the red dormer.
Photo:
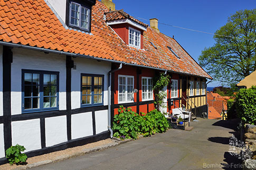
M 132 21 L 135 21 L 136 23 L 139 23 L 140 25 L 143 25 L 145 27 L 147 27 L 148 25 L 140 22 L 138 19 L 130 16 L 129 14 L 127 14 L 126 12 L 124 12 L 124 9 L 120 9 L 120 10 L 116 10 L 116 11 L 109 11 L 107 13 L 105 13 L 106 15 L 106 21 L 114 21 L 117 19 L 131 19 Z

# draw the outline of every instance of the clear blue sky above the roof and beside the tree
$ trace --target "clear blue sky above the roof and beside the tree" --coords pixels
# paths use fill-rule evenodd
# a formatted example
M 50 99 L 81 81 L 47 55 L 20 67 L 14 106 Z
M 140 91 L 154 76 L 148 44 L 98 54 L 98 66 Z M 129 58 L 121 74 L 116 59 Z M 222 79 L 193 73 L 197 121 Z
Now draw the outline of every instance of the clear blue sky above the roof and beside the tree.
M 199 31 L 215 33 L 225 25 L 227 18 L 236 11 L 253 9 L 255 0 L 113 0 L 116 9 L 124 9 L 134 17 L 145 19 L 158 18 L 159 23 L 196 29 Z M 149 24 L 148 21 L 140 21 Z M 198 62 L 205 47 L 214 45 L 213 35 L 191 32 L 180 28 L 158 24 L 160 32 L 173 36 L 186 51 Z M 209 83 L 208 87 L 218 86 L 219 82 Z

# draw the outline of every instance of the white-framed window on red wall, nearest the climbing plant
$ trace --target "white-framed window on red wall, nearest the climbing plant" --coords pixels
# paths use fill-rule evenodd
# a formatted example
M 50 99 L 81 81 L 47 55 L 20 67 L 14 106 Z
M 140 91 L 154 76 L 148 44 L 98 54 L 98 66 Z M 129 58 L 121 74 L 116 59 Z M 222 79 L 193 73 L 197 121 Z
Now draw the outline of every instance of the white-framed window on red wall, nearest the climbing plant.
M 142 77 L 142 101 L 153 100 L 153 79 Z

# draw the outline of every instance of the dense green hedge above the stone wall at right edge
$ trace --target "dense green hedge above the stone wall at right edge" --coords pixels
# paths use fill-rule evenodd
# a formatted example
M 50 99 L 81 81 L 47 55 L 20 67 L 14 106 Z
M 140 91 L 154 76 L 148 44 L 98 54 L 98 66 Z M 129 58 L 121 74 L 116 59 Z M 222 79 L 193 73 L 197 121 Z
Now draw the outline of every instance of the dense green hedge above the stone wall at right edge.
M 244 123 L 256 125 L 256 86 L 236 94 L 236 111 Z

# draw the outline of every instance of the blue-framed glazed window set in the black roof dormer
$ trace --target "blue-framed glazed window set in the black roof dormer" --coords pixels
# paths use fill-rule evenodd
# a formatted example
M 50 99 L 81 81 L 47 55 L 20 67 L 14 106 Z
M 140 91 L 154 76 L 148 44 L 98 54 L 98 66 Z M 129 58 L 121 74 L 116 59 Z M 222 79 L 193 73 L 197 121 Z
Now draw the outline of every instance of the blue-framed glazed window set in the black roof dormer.
M 69 24 L 89 31 L 90 9 L 81 4 L 70 2 Z

